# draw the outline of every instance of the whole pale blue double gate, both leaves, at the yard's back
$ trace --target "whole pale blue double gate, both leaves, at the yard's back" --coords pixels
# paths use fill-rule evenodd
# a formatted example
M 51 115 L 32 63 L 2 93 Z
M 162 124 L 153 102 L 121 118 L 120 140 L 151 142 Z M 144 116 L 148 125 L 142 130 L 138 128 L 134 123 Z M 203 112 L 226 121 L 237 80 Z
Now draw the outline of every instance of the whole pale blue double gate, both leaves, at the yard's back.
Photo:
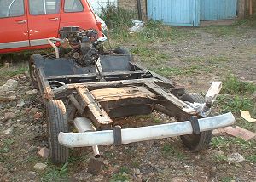
M 172 26 L 199 26 L 200 20 L 236 17 L 237 0 L 148 0 L 148 18 Z

